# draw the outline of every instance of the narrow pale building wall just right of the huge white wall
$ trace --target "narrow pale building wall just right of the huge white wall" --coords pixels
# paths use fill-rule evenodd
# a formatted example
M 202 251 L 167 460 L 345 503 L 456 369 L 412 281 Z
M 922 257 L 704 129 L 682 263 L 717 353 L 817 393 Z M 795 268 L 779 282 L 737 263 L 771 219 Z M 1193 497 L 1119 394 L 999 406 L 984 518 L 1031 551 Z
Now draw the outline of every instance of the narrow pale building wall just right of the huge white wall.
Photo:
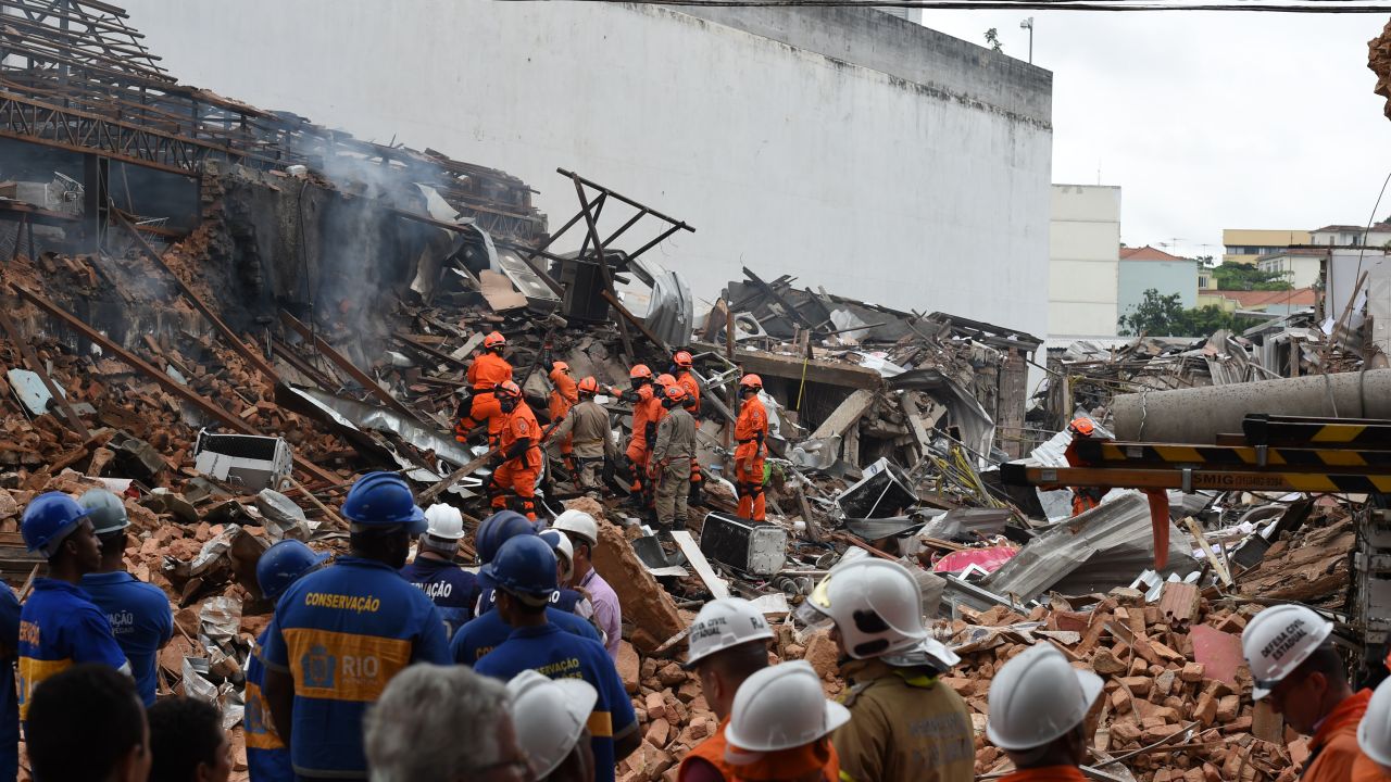
M 1120 188 L 1053 185 L 1049 337 L 1116 334 L 1120 248 Z

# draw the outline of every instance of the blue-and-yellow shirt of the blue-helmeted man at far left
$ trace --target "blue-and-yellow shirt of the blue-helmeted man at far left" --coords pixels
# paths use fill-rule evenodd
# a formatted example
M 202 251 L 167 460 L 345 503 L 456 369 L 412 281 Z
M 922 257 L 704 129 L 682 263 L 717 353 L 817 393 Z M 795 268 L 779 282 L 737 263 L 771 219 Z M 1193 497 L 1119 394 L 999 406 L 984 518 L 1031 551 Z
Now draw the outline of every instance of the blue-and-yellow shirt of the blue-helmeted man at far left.
M 79 662 L 127 668 L 111 622 L 81 589 L 56 579 L 35 579 L 19 611 L 19 719 L 40 682 Z

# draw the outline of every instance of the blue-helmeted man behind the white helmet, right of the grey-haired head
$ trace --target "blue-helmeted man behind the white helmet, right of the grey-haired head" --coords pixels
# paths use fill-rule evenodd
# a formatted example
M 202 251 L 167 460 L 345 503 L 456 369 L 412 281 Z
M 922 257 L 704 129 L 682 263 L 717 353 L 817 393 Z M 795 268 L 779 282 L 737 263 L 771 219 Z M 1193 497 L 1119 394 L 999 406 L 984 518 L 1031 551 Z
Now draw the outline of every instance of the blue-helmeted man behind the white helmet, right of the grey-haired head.
M 517 536 L 480 570 L 498 590 L 498 614 L 516 630 L 473 669 L 504 682 L 526 669 L 552 679 L 583 679 L 598 693 L 588 715 L 594 779 L 613 782 L 613 765 L 641 743 L 637 715 L 604 644 L 547 622 L 555 591 L 555 554 L 537 536 Z

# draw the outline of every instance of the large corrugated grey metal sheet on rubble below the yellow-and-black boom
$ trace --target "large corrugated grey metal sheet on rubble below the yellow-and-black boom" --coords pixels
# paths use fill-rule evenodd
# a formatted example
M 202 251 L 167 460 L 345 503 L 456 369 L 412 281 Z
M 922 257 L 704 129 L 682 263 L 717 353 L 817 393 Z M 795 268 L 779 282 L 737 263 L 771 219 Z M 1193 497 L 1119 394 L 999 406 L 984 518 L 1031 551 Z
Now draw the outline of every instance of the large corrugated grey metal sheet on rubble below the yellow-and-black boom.
M 1198 568 L 1184 547 L 1187 534 L 1170 522 L 1168 568 L 1161 575 L 1185 575 Z M 1128 586 L 1155 561 L 1149 501 L 1138 491 L 1067 522 L 1054 525 L 1028 543 L 981 583 L 996 594 L 1032 600 L 1045 591 L 1089 594 Z

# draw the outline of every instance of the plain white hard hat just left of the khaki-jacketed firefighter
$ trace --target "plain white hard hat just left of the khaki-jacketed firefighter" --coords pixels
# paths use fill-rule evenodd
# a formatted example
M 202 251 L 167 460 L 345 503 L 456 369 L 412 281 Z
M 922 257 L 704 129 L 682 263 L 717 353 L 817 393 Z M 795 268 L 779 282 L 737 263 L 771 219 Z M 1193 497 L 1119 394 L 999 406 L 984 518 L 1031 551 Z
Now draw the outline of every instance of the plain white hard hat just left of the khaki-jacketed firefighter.
M 821 676 L 805 660 L 764 668 L 734 693 L 725 726 L 725 760 L 736 765 L 753 763 L 758 756 L 748 753 L 810 744 L 846 722 L 850 710 L 826 700 Z

